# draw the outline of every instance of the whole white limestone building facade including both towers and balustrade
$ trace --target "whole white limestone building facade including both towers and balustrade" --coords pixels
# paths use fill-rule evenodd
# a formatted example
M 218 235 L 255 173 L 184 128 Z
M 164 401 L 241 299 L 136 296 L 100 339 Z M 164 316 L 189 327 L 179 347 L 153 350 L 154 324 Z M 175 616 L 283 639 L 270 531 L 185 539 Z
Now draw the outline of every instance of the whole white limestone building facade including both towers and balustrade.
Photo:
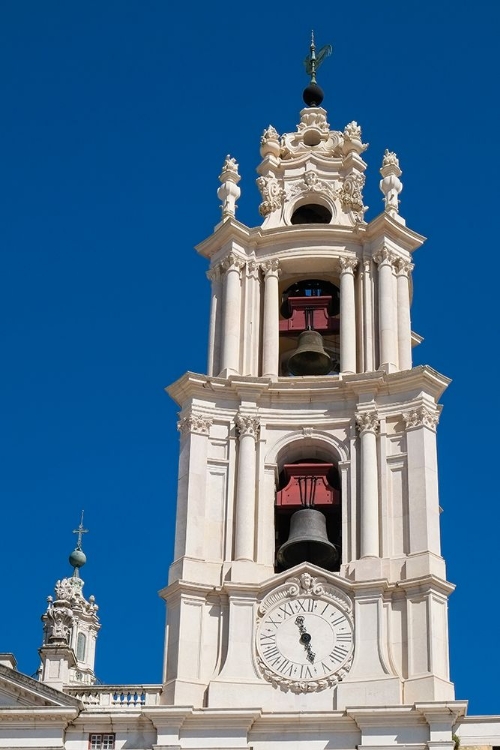
M 424 238 L 399 213 L 389 151 L 384 210 L 366 221 L 366 147 L 357 123 L 331 130 L 321 107 L 294 132 L 269 126 L 255 228 L 236 218 L 227 157 L 221 221 L 197 248 L 212 290 L 207 374 L 167 389 L 180 455 L 162 684 L 95 684 L 96 606 L 78 576 L 64 579 L 44 615 L 40 681 L 0 656 L 0 748 L 500 746 L 500 717 L 468 717 L 450 681 L 436 453 L 449 380 L 412 367 Z M 317 315 L 328 371 L 297 375 Z M 327 567 L 277 556 L 293 517 L 280 493 L 301 466 L 331 477 Z

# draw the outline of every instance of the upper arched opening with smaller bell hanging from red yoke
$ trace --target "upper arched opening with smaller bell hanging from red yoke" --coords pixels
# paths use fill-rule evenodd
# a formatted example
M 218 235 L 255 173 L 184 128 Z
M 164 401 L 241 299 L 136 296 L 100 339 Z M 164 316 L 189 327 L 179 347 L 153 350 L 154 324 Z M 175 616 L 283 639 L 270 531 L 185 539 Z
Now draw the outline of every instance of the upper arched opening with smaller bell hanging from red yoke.
M 340 370 L 340 292 L 331 281 L 303 279 L 282 293 L 280 374 L 335 375 Z

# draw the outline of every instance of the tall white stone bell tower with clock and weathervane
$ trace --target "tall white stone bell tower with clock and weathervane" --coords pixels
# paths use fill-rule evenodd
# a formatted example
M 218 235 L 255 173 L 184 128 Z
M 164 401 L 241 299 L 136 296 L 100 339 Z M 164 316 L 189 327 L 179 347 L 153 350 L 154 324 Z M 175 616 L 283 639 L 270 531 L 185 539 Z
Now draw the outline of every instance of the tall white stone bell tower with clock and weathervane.
M 236 219 L 228 156 L 222 220 L 197 247 L 210 264 L 208 371 L 167 389 L 181 438 L 163 699 L 292 723 L 355 706 L 393 726 L 411 707 L 428 732 L 439 717 L 427 739 L 449 748 L 464 710 L 439 531 L 449 381 L 412 367 L 410 326 L 425 238 L 399 213 L 388 150 L 383 211 L 366 220 L 361 128 L 333 129 L 321 107 L 328 52 L 311 46 L 296 130 L 262 135 L 261 225 Z M 364 737 L 355 744 L 377 744 Z

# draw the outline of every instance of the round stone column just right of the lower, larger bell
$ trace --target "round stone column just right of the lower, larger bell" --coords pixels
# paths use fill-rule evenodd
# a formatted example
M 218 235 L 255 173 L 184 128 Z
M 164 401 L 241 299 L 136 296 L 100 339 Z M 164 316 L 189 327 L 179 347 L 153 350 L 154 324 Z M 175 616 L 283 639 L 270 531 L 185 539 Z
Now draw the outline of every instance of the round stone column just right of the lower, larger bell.
M 359 412 L 356 424 L 361 438 L 361 550 L 360 557 L 379 557 L 379 507 L 376 411 Z

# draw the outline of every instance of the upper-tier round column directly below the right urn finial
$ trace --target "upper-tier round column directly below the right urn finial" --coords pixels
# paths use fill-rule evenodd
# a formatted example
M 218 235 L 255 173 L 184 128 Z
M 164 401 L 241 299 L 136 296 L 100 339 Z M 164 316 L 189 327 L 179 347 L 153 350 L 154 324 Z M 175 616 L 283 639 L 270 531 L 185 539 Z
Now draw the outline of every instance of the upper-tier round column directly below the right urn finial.
M 396 321 L 394 320 L 394 262 L 395 256 L 387 248 L 373 260 L 378 263 L 378 318 L 380 332 L 379 366 L 388 372 L 398 369 Z

